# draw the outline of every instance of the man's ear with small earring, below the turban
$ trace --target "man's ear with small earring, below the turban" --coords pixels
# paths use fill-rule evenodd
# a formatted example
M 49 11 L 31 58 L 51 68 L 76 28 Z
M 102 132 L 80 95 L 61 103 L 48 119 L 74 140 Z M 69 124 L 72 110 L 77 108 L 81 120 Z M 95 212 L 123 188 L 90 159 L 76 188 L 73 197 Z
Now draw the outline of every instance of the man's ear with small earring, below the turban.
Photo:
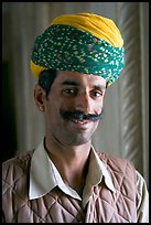
M 37 108 L 41 111 L 44 111 L 45 92 L 39 84 L 36 84 L 34 87 L 34 100 Z

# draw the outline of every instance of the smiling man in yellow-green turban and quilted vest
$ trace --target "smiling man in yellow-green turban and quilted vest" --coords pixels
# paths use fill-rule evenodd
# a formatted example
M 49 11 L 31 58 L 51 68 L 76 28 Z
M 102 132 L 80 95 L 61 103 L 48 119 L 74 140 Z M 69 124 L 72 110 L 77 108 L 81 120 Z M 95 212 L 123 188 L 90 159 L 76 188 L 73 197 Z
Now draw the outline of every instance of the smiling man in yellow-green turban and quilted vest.
M 148 222 L 142 175 L 91 146 L 107 86 L 122 67 L 123 40 L 110 19 L 61 15 L 36 38 L 31 71 L 45 133 L 35 150 L 3 163 L 3 222 Z

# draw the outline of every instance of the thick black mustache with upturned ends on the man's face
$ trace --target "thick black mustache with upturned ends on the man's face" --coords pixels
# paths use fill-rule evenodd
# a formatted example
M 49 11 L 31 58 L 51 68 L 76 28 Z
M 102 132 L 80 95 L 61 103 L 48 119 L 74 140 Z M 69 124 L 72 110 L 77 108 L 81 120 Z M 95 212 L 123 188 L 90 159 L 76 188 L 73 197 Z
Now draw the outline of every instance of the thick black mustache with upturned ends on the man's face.
M 90 121 L 97 121 L 103 119 L 103 115 L 104 115 L 104 110 L 101 110 L 100 114 L 95 115 L 95 114 L 84 114 L 83 111 L 66 111 L 64 109 L 60 110 L 61 116 L 63 117 L 63 119 L 65 120 L 90 120 Z

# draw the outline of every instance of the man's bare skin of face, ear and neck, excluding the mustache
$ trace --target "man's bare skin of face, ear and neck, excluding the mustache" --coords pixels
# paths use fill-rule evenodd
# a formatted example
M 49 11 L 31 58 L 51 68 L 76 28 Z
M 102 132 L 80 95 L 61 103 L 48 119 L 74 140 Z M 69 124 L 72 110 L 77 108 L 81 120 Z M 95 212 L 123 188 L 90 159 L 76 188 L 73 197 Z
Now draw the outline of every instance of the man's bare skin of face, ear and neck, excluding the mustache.
M 43 107 L 45 149 L 65 183 L 75 190 L 83 188 L 91 137 L 99 121 L 65 120 L 60 110 L 100 114 L 106 93 L 106 79 L 76 72 L 57 72 L 48 96 L 35 85 L 34 98 Z

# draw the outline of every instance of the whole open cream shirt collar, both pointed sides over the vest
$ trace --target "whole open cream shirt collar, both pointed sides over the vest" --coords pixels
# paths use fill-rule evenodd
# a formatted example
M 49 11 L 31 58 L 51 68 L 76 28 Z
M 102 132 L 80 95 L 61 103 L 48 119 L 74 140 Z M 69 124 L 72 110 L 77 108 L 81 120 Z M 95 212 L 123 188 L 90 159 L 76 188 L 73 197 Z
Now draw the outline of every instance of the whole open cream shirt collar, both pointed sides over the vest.
M 95 149 L 91 147 L 89 169 L 86 178 L 86 185 L 84 188 L 83 196 L 86 204 L 88 197 L 91 194 L 91 186 L 97 185 L 101 182 L 103 176 L 105 178 L 105 183 L 108 189 L 116 192 L 109 171 L 106 169 L 104 162 L 99 159 Z M 35 149 L 32 160 L 31 160 L 31 170 L 30 170 L 30 190 L 29 196 L 30 200 L 39 199 L 46 193 L 48 193 L 56 185 L 65 192 L 66 194 L 72 195 L 75 199 L 82 200 L 80 196 L 69 186 L 67 186 L 57 169 L 53 164 L 52 160 L 48 158 L 43 141 Z

